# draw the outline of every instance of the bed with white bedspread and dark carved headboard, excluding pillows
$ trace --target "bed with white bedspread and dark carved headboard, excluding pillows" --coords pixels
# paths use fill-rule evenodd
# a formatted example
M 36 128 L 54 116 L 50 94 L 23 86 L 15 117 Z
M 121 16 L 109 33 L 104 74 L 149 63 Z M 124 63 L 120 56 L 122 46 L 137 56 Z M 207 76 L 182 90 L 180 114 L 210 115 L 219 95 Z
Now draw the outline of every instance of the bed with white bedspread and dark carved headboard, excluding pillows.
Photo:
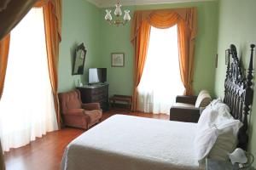
M 235 45 L 225 79 L 224 103 L 243 123 L 238 146 L 247 148 L 247 115 L 253 103 L 253 48 L 244 73 Z M 184 170 L 201 169 L 195 158 L 197 123 L 172 122 L 136 116 L 111 116 L 67 145 L 63 170 Z

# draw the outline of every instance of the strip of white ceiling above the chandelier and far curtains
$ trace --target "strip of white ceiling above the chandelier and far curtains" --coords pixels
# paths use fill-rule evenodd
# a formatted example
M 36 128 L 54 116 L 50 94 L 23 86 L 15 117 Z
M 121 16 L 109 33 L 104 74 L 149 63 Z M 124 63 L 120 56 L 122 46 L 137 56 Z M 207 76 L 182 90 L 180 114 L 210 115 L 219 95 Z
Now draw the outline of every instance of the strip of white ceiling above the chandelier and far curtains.
M 113 7 L 117 0 L 87 0 L 95 4 L 99 8 Z M 186 3 L 186 2 L 202 2 L 202 1 L 215 1 L 215 0 L 122 0 L 123 6 L 128 5 L 148 5 L 148 4 L 161 4 L 161 3 Z

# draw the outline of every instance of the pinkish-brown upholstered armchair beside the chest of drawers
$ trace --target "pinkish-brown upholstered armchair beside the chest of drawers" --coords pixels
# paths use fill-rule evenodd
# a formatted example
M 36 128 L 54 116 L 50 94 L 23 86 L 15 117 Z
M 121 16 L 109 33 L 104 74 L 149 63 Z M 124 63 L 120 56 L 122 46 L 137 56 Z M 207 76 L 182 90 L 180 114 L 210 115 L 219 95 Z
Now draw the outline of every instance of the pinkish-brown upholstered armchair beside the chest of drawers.
M 69 127 L 88 129 L 100 122 L 102 109 L 99 103 L 82 104 L 79 90 L 59 94 L 63 122 Z

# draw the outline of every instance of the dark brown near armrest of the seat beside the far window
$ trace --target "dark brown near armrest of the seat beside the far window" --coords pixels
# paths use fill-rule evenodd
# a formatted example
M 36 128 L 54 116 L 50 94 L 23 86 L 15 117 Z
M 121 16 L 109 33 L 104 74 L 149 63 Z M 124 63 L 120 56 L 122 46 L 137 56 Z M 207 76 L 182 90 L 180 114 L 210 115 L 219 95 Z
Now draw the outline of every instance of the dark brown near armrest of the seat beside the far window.
M 198 122 L 200 108 L 172 106 L 170 109 L 170 121 Z

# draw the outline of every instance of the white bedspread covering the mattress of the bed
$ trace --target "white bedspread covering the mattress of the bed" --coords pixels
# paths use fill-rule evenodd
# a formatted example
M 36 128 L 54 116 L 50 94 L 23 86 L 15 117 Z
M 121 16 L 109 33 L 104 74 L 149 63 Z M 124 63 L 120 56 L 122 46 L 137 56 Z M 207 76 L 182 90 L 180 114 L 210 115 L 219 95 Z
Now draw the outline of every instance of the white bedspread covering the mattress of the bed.
M 199 169 L 195 129 L 195 123 L 111 116 L 67 145 L 61 169 Z

